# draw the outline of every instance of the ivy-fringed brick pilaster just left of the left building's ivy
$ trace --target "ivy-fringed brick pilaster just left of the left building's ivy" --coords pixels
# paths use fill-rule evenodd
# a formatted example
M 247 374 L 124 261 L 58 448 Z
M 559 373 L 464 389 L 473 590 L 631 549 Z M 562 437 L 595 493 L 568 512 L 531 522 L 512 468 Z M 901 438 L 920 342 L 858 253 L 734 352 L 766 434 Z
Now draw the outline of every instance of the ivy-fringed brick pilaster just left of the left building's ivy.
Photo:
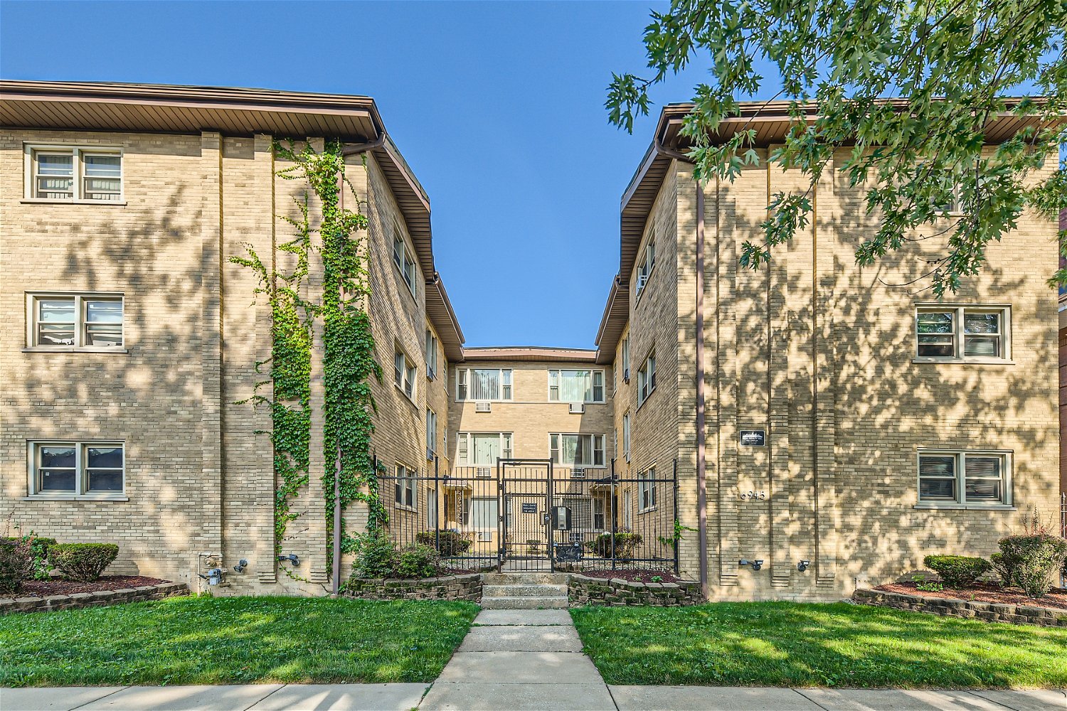
M 255 163 L 255 189 L 251 191 L 251 199 L 256 201 L 255 220 L 257 236 L 257 252 L 264 259 L 268 269 L 274 269 L 275 248 L 275 210 L 274 210 L 274 151 L 272 148 L 272 138 L 268 134 L 257 133 L 254 139 L 254 163 Z M 261 245 L 261 246 L 260 246 Z M 270 247 L 270 254 L 262 247 Z M 269 257 L 269 260 L 268 260 Z M 273 285 L 264 285 L 272 288 Z M 271 340 L 271 328 L 274 325 L 273 313 L 270 302 L 260 296 L 255 302 L 255 349 L 256 353 L 262 354 L 265 359 L 270 356 L 273 349 Z M 262 395 L 267 402 L 274 399 L 274 387 L 270 378 L 266 375 L 266 383 L 259 386 L 258 394 Z M 255 452 L 255 507 L 253 512 L 253 526 L 255 540 L 253 552 L 256 559 L 256 577 L 261 584 L 277 582 L 277 559 L 274 547 L 274 505 L 276 482 L 274 481 L 274 445 L 271 441 L 271 431 L 273 422 L 271 420 L 270 406 L 266 403 L 258 404 L 253 410 L 256 432 L 264 434 L 256 435 Z

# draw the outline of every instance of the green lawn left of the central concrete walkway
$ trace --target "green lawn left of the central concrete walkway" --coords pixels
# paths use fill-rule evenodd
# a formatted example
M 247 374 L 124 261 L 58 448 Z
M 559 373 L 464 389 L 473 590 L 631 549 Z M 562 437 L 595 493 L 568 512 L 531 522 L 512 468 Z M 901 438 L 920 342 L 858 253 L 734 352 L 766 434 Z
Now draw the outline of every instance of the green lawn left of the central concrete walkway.
M 469 602 L 171 598 L 0 617 L 0 686 L 432 681 Z

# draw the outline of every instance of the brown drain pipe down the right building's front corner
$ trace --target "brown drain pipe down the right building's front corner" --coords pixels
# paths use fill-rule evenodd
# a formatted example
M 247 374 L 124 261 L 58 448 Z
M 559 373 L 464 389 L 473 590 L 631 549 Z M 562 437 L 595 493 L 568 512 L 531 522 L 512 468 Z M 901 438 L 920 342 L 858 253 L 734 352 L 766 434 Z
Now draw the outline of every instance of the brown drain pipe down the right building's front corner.
M 685 153 L 663 145 L 657 133 L 655 151 L 685 163 L 692 161 Z M 704 430 L 704 188 L 697 180 L 697 548 L 700 555 L 700 596 L 707 600 L 707 436 Z

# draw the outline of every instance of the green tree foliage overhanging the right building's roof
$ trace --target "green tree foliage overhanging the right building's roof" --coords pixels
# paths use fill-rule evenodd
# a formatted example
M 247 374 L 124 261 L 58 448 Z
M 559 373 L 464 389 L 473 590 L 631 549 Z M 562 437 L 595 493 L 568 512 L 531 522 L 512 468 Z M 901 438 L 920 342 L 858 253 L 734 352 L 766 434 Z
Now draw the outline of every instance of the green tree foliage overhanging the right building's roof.
M 942 295 L 980 272 L 989 242 L 1024 209 L 1051 216 L 1067 207 L 1062 169 L 1035 177 L 1064 139 L 1065 20 L 1065 0 L 672 0 L 644 31 L 650 76 L 615 75 L 606 106 L 611 123 L 632 131 L 649 112 L 650 87 L 706 62 L 712 79 L 697 85 L 682 133 L 697 179 L 733 180 L 761 161 L 755 129 L 716 132 L 738 115 L 737 97 L 773 95 L 793 127 L 767 160 L 810 184 L 773 196 L 763 238 L 743 245 L 743 264 L 765 263 L 808 224 L 812 187 L 832 165 L 866 188 L 867 210 L 880 215 L 857 262 L 943 238 L 923 274 Z M 760 74 L 766 66 L 775 86 Z M 987 125 L 1002 114 L 1038 120 L 984 149 Z M 833 164 L 838 147 L 848 158 Z M 1057 280 L 1067 282 L 1067 272 Z

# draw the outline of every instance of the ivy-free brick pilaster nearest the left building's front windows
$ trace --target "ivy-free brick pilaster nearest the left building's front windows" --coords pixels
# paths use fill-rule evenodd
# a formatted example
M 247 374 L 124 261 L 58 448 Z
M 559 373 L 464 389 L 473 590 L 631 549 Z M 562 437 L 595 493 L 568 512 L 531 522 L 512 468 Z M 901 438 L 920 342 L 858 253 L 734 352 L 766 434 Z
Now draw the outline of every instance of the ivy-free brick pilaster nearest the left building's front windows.
M 201 133 L 201 550 L 222 552 L 222 136 Z

